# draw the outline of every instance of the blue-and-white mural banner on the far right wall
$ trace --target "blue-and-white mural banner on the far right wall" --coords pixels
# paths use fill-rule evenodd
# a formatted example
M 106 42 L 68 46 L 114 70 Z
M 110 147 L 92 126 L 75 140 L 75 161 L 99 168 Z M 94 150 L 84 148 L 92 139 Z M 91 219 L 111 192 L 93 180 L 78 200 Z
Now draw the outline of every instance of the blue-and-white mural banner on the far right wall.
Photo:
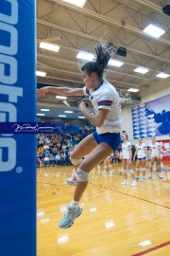
M 133 137 L 170 134 L 170 94 L 131 108 Z

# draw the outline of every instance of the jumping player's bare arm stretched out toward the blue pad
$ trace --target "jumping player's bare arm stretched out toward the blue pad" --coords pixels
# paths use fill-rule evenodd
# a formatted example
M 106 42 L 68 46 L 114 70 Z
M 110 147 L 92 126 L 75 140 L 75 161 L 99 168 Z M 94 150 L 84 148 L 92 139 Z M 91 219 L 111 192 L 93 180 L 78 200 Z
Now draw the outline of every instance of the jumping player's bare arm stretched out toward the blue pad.
M 69 87 L 54 87 L 54 86 L 44 86 L 37 90 L 37 95 L 39 97 L 45 95 L 48 92 L 59 94 L 62 96 L 83 96 L 83 88 L 69 88 Z

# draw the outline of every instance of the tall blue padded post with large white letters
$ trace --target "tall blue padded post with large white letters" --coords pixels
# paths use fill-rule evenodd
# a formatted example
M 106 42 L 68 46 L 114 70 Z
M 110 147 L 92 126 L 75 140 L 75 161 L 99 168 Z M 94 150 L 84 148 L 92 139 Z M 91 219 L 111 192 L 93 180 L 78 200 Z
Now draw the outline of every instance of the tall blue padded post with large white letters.
M 0 0 L 0 126 L 36 120 L 36 1 Z M 0 133 L 0 255 L 36 255 L 36 136 Z

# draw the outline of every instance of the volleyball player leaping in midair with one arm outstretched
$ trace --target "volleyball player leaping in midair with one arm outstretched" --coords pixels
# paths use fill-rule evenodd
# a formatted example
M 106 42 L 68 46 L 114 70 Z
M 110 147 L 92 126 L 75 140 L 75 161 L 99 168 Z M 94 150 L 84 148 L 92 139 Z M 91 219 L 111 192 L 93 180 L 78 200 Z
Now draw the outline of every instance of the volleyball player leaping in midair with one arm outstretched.
M 99 42 L 95 46 L 95 51 L 95 61 L 81 67 L 84 88 L 45 86 L 38 90 L 38 96 L 47 92 L 63 96 L 86 95 L 92 101 L 95 111 L 95 115 L 93 115 L 88 111 L 85 103 L 80 102 L 79 110 L 96 126 L 96 131 L 81 140 L 71 155 L 71 161 L 77 168 L 76 190 L 67 211 L 59 222 L 61 229 L 70 228 L 82 213 L 82 208 L 78 203 L 87 188 L 89 173 L 108 155 L 118 151 L 121 141 L 122 113 L 119 95 L 114 86 L 104 79 L 105 68 L 114 52 L 114 46 Z M 87 157 L 82 160 L 84 155 Z

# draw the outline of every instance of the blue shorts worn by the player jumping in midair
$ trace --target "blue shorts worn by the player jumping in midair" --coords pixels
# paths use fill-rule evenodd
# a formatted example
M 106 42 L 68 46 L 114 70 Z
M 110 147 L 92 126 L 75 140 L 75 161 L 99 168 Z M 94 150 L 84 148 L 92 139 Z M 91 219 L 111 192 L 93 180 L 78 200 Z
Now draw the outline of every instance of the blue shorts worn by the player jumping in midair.
M 120 133 L 106 133 L 106 134 L 101 134 L 98 135 L 96 131 L 93 132 L 93 137 L 95 141 L 100 144 L 100 143 L 106 143 L 108 144 L 113 152 L 116 152 L 119 150 L 119 146 L 121 143 L 121 136 Z

